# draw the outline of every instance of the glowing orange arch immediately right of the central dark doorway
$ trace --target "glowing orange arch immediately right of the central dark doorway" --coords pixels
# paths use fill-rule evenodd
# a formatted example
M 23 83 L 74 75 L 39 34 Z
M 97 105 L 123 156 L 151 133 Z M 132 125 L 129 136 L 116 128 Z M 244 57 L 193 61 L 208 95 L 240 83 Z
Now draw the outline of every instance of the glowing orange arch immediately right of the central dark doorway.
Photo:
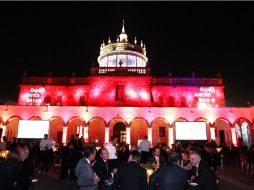
M 136 117 L 130 122 L 130 144 L 138 145 L 138 140 L 144 138 L 145 135 L 148 135 L 149 123 L 146 119 L 142 117 Z

